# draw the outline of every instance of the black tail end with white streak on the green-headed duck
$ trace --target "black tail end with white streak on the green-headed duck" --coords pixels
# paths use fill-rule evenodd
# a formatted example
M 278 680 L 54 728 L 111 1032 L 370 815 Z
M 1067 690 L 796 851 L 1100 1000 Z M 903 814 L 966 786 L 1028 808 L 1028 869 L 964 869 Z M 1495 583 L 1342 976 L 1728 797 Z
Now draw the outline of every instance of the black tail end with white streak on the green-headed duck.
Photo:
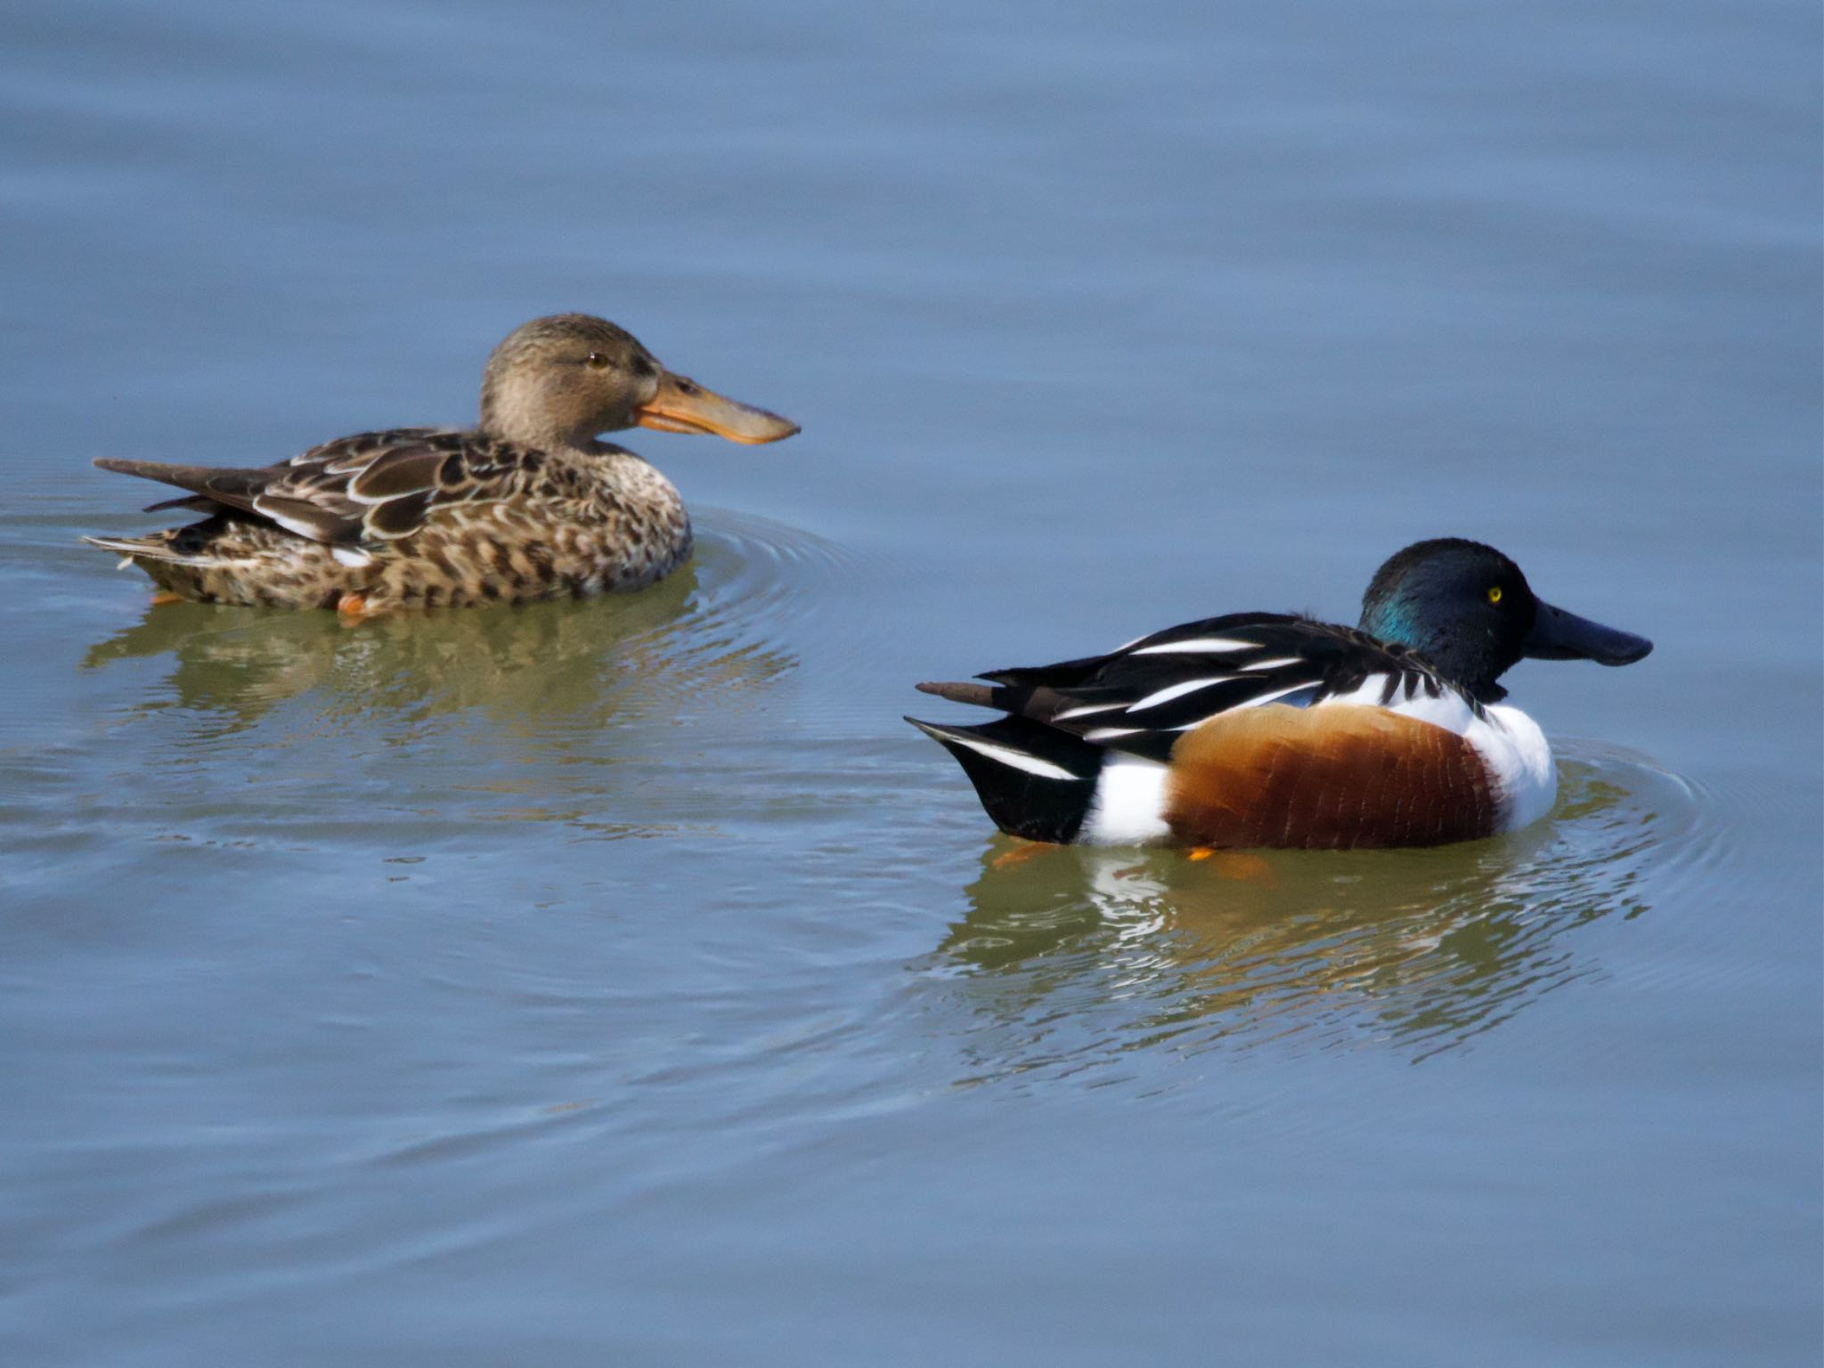
M 907 720 L 956 757 L 981 806 L 1003 832 L 1058 845 L 1076 839 L 1096 797 L 1100 746 L 1027 717 L 1003 717 L 979 726 Z

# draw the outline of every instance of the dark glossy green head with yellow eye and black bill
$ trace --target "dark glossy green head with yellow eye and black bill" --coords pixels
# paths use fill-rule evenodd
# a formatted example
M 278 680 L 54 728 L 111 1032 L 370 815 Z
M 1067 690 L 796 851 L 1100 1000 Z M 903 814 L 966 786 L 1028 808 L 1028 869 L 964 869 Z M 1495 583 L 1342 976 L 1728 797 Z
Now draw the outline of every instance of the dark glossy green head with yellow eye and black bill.
M 1496 680 L 1525 657 L 1627 666 L 1653 649 L 1645 637 L 1541 602 L 1519 565 L 1456 536 L 1415 542 L 1381 565 L 1363 595 L 1361 629 L 1419 651 L 1481 702 L 1505 697 Z

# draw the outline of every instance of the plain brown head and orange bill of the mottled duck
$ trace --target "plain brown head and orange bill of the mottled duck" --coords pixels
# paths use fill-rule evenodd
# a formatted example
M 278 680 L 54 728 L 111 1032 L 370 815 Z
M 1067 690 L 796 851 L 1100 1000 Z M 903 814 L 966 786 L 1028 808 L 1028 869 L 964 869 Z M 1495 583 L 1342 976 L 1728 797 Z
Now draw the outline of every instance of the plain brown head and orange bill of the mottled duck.
M 730 441 L 797 432 L 779 414 L 724 399 L 658 365 L 626 328 L 589 314 L 534 317 L 482 372 L 482 430 L 529 447 L 587 447 L 596 432 L 655 427 Z

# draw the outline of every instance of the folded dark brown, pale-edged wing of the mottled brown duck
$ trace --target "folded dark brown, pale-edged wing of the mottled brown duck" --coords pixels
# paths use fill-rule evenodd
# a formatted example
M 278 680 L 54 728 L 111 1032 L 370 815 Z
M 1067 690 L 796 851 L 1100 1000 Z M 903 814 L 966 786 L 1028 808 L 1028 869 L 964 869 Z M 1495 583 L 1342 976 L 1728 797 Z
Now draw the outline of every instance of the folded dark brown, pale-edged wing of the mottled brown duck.
M 279 465 L 95 463 L 190 491 L 151 509 L 233 509 L 312 542 L 358 545 L 410 536 L 438 507 L 523 491 L 545 460 L 478 432 L 401 427 L 337 438 Z

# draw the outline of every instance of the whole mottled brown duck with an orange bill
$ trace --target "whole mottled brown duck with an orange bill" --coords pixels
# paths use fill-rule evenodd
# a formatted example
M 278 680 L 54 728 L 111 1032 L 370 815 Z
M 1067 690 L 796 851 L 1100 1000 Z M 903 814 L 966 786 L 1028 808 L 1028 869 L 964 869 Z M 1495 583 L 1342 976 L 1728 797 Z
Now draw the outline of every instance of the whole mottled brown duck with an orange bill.
M 626 328 L 551 314 L 487 358 L 476 427 L 396 427 L 275 465 L 97 460 L 182 489 L 146 513 L 201 522 L 84 536 L 139 565 L 155 602 L 345 615 L 642 589 L 682 565 L 679 491 L 600 432 L 649 427 L 764 443 L 797 423 L 668 370 Z

